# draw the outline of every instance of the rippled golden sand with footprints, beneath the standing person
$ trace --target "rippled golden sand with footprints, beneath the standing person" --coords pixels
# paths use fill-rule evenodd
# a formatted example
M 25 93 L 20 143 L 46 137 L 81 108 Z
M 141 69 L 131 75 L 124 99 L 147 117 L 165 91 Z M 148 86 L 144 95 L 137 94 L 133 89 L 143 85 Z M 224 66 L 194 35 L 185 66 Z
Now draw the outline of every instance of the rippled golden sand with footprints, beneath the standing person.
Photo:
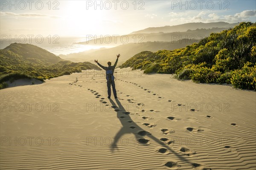
M 256 168 L 256 92 L 125 69 L 116 78 L 117 100 L 99 71 L 1 90 L 0 169 Z

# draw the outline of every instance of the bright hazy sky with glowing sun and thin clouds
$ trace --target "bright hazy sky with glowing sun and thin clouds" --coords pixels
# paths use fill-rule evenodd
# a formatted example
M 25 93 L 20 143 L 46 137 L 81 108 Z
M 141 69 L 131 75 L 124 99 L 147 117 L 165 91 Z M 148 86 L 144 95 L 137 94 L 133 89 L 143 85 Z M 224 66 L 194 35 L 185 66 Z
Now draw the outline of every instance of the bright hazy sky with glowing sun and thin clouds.
M 1 0 L 0 34 L 122 35 L 191 22 L 256 22 L 255 0 Z M 189 28 L 188 28 L 189 29 Z

